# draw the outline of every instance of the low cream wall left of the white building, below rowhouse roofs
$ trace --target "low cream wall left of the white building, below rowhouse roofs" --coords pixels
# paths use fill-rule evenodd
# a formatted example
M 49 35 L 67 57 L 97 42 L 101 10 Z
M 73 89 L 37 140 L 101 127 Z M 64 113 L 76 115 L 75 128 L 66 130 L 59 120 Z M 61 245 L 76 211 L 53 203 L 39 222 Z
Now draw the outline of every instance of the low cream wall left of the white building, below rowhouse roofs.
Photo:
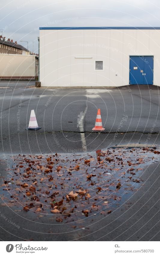
M 35 79 L 35 56 L 0 54 L 1 79 Z

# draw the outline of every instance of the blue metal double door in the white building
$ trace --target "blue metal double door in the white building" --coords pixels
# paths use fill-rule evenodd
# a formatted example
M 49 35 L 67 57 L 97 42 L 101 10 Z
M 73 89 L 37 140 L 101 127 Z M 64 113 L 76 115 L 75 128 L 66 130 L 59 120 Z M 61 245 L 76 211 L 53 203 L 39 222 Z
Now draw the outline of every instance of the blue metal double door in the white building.
M 129 84 L 153 84 L 153 56 L 130 56 Z

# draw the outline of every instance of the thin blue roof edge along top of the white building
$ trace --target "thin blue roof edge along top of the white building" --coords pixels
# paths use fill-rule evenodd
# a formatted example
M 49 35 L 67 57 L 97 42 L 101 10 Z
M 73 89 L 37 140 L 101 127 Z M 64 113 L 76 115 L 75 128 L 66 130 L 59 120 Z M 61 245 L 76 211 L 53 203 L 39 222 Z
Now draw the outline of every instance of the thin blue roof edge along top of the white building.
M 160 29 L 160 27 L 40 27 L 40 30 L 76 30 L 76 29 Z

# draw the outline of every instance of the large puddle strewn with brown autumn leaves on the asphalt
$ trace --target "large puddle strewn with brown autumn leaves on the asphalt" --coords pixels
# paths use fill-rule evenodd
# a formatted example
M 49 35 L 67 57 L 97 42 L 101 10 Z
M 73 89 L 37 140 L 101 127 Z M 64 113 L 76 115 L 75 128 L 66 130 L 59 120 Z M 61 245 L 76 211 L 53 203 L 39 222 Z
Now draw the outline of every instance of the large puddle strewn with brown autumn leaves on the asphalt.
M 69 223 L 106 216 L 125 203 L 143 185 L 142 173 L 160 160 L 160 152 L 130 144 L 92 153 L 5 157 L 10 168 L 4 158 L 2 206 L 34 219 L 47 215 L 52 223 Z

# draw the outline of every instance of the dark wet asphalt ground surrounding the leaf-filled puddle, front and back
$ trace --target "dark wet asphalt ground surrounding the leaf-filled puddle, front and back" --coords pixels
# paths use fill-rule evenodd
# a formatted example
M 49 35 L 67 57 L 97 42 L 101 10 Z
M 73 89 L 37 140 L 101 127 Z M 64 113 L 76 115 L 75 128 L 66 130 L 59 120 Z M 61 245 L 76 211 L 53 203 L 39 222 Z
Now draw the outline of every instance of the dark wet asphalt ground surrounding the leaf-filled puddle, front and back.
M 1 81 L 1 155 L 92 152 L 122 144 L 160 145 L 159 87 L 132 85 L 119 88 L 35 88 L 34 81 Z M 101 133 L 92 131 L 101 109 Z M 34 109 L 38 131 L 26 131 Z M 80 122 L 79 122 L 80 121 Z M 2 155 L 3 157 L 3 155 Z M 2 158 L 1 157 L 1 158 Z M 1 161 L 0 161 L 1 163 Z M 5 176 L 1 164 L 1 175 Z M 29 212 L 14 212 L 1 200 L 4 241 L 158 241 L 159 163 L 143 171 L 143 186 L 106 217 L 95 216 L 84 229 L 69 224 L 44 224 Z M 2 180 L 1 180 L 2 182 Z M 3 198 L 2 198 L 3 199 Z M 18 210 L 18 209 L 17 209 Z M 47 217 L 46 217 L 47 218 Z

